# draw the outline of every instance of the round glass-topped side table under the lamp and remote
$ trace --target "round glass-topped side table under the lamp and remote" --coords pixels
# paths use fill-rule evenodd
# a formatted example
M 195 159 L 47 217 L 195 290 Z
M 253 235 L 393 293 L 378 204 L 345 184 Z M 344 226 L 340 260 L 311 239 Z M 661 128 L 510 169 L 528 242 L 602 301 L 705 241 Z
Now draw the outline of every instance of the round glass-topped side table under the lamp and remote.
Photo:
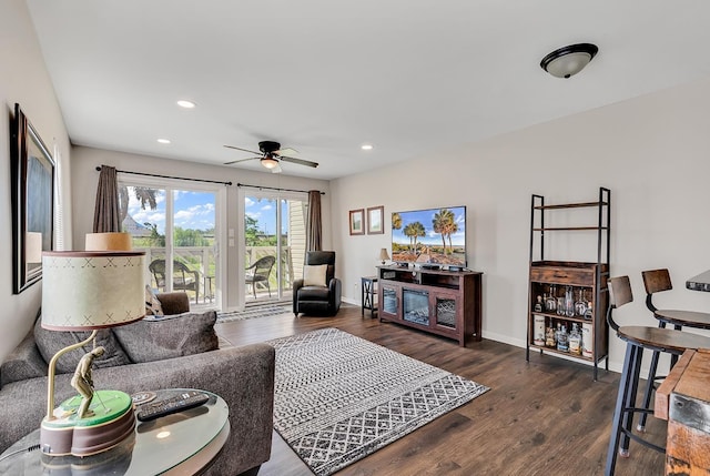
M 156 391 L 155 399 L 170 398 L 185 391 Z M 106 452 L 83 458 L 47 456 L 39 449 L 27 450 L 33 445 L 39 448 L 40 431 L 36 429 L 0 455 L 0 474 L 199 474 L 220 454 L 230 435 L 226 402 L 215 394 L 204 393 L 210 395 L 204 405 L 151 422 L 138 422 L 133 436 Z

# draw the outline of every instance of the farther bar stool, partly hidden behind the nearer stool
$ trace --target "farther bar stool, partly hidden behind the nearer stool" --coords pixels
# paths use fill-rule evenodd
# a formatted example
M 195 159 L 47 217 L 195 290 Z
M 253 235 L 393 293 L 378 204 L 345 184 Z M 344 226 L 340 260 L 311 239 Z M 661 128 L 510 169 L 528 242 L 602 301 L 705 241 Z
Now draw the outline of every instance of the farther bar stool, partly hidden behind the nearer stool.
M 680 331 L 683 327 L 710 330 L 710 313 L 681 310 L 659 310 L 653 305 L 653 294 L 673 288 L 673 285 L 670 282 L 670 273 L 667 269 L 642 271 L 641 276 L 643 277 L 643 286 L 646 287 L 646 307 L 653 313 L 653 317 L 658 320 L 659 327 L 666 327 L 667 324 L 670 324 L 676 331 Z M 651 365 L 649 366 L 646 393 L 643 394 L 645 407 L 648 407 L 651 403 L 651 394 L 656 389 L 656 381 L 662 378 L 656 375 L 659 355 L 659 352 L 653 352 Z M 671 367 L 676 365 L 677 361 L 678 356 L 672 355 Z M 646 415 L 641 415 L 638 429 L 640 432 L 646 429 Z

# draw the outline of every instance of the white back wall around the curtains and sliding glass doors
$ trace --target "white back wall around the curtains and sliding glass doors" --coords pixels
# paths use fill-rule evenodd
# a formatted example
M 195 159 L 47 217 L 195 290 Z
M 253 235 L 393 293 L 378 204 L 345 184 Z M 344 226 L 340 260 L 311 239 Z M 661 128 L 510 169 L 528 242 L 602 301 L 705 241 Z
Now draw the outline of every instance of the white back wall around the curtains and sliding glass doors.
M 73 244 L 75 250 L 83 249 L 84 235 L 92 231 L 97 184 L 99 183 L 99 172 L 97 172 L 95 168 L 102 164 L 131 172 L 215 180 L 221 182 L 231 181 L 233 185 L 227 186 L 226 229 L 234 230 L 240 229 L 237 223 L 237 213 L 243 206 L 243 204 L 239 203 L 237 200 L 237 183 L 273 186 L 278 189 L 320 190 L 325 192 L 325 195 L 322 196 L 322 214 L 324 216 L 323 246 L 327 250 L 332 245 L 331 222 L 327 220 L 331 214 L 329 184 L 326 181 L 75 146 L 72 149 L 72 181 L 75 184 L 81 184 L 81 186 L 75 186 L 72 193 L 72 206 L 74 211 Z M 236 240 L 239 243 L 240 237 L 237 236 Z M 239 305 L 237 271 L 244 267 L 244 263 L 243 256 L 237 253 L 239 249 L 236 246 L 226 247 L 226 250 L 227 273 L 226 286 L 223 286 L 223 293 L 226 292 L 224 306 L 225 308 L 234 308 Z

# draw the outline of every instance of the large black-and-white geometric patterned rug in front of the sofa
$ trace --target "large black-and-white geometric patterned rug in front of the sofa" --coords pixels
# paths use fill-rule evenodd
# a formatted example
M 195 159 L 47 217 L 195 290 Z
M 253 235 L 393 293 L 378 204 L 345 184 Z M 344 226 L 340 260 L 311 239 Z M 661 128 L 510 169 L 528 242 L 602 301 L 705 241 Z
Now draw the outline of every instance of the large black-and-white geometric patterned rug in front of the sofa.
M 268 343 L 276 348 L 274 428 L 318 476 L 489 389 L 336 328 Z

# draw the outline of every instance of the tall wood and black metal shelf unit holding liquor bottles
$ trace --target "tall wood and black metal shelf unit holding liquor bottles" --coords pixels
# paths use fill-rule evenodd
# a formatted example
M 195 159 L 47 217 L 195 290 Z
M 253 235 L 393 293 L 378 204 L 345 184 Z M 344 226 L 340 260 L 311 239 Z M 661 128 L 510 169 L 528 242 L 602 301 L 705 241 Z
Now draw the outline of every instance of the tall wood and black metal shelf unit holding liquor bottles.
M 597 379 L 598 364 L 602 359 L 608 369 L 609 330 L 605 321 L 607 310 L 607 278 L 609 277 L 609 237 L 610 237 L 611 192 L 599 188 L 599 198 L 592 202 L 546 204 L 541 195 L 532 195 L 530 204 L 530 265 L 527 315 L 526 359 L 530 359 L 530 348 L 540 354 L 565 355 L 589 362 L 594 366 L 594 379 Z M 569 226 L 559 211 L 587 210 L 595 212 L 596 224 Z M 557 221 L 551 220 L 555 213 Z M 565 219 L 565 226 L 559 226 Z M 588 216 L 585 220 L 589 220 Z M 596 262 L 549 261 L 545 259 L 547 251 L 545 237 L 552 232 L 594 232 L 596 233 Z M 591 241 L 590 241 L 591 242 Z M 558 301 L 567 291 L 571 292 L 570 312 L 566 312 L 566 302 Z M 546 305 L 552 301 L 554 305 Z M 569 300 L 567 300 L 568 302 Z M 577 306 L 577 302 L 586 305 Z M 560 305 L 565 311 L 558 312 Z M 576 325 L 581 333 L 579 347 L 558 348 L 556 341 L 545 340 L 549 332 L 555 334 L 557 326 L 569 333 Z M 550 331 L 551 328 L 551 331 Z M 540 333 L 542 340 L 540 340 Z M 570 352 L 571 351 L 571 352 Z

